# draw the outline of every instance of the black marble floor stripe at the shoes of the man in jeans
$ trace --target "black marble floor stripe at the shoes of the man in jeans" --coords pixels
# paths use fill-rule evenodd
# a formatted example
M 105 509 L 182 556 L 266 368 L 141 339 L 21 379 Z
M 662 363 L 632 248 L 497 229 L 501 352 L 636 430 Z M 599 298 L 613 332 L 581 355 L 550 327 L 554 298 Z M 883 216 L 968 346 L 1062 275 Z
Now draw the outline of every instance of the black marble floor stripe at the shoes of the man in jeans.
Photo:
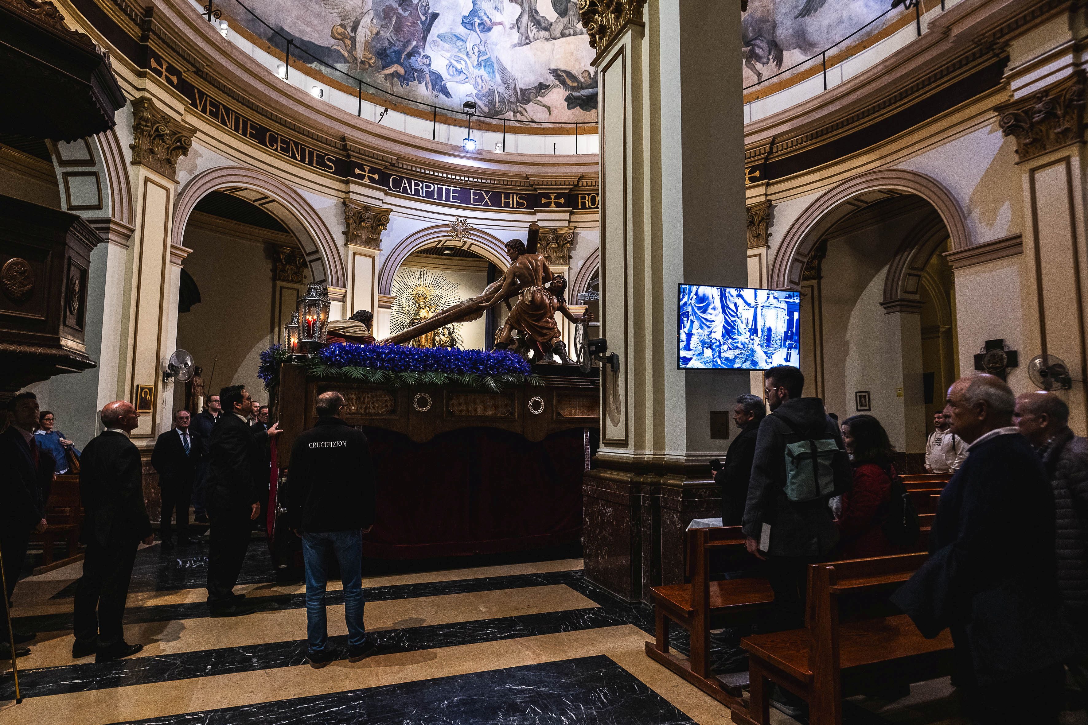
M 626 602 L 617 599 L 595 585 L 585 582 L 580 573 L 576 574 L 577 576 L 568 586 L 597 603 L 598 607 L 455 624 L 386 629 L 375 633 L 374 636 L 381 646 L 382 653 L 394 653 L 595 629 L 621 624 L 634 624 L 644 632 L 653 632 L 653 611 L 648 605 L 643 602 Z M 347 647 L 346 635 L 331 637 L 330 641 L 333 647 L 341 650 Z M 289 667 L 301 664 L 305 655 L 305 640 L 198 650 L 102 664 L 86 663 L 26 670 L 20 673 L 20 686 L 23 697 L 42 697 L 190 677 Z M 11 674 L 5 673 L 0 676 L 0 700 L 10 700 L 13 697 L 14 683 Z

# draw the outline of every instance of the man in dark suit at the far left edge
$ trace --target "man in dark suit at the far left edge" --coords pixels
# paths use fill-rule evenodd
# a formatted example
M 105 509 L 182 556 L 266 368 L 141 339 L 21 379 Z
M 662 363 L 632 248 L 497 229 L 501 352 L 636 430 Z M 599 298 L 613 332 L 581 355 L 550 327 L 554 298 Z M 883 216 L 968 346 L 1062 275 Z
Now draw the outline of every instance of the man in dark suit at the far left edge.
M 38 421 L 38 399 L 33 392 L 21 392 L 8 402 L 11 425 L 0 435 L 0 553 L 3 553 L 3 575 L 7 591 L 0 602 L 0 615 L 15 591 L 15 580 L 23 571 L 30 534 L 46 530 L 46 507 L 38 486 L 39 450 L 32 430 Z M 5 617 L 0 616 L 0 660 L 11 658 Z M 34 633 L 14 633 L 15 645 L 34 639 Z M 15 657 L 30 653 L 26 647 L 16 647 Z

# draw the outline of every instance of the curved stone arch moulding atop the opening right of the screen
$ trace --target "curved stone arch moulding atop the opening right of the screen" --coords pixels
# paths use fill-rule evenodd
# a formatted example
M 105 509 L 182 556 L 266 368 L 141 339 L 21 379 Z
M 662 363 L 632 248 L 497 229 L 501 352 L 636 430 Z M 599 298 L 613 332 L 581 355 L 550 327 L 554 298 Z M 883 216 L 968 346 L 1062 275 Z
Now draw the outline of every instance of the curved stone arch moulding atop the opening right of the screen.
M 905 168 L 877 168 L 843 182 L 802 212 L 782 238 L 768 287 L 800 289 L 805 261 L 828 229 L 864 205 L 904 193 L 922 197 L 932 204 L 948 229 L 953 249 L 972 245 L 963 210 L 943 185 Z

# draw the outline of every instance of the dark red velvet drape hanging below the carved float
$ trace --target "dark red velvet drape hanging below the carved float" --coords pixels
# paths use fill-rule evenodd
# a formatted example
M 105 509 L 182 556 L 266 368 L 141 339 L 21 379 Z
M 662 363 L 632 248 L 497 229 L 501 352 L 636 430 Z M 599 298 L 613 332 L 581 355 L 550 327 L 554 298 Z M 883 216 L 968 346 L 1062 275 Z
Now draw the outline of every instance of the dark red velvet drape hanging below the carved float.
M 364 430 L 378 468 L 378 523 L 363 537 L 364 557 L 496 553 L 581 537 L 583 429 L 536 443 L 495 428 L 425 443 Z

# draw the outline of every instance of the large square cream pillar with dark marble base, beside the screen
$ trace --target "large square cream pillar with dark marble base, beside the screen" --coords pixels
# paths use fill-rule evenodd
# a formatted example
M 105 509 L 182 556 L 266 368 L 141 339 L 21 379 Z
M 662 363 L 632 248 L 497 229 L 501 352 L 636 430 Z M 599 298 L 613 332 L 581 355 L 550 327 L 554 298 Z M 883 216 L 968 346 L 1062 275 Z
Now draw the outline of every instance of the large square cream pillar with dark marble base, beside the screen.
M 741 11 L 621 0 L 582 21 L 601 85 L 601 334 L 620 358 L 583 488 L 585 573 L 644 599 L 682 582 L 689 522 L 719 515 L 707 463 L 729 439 L 710 416 L 751 386 L 677 366 L 678 285 L 747 283 Z

